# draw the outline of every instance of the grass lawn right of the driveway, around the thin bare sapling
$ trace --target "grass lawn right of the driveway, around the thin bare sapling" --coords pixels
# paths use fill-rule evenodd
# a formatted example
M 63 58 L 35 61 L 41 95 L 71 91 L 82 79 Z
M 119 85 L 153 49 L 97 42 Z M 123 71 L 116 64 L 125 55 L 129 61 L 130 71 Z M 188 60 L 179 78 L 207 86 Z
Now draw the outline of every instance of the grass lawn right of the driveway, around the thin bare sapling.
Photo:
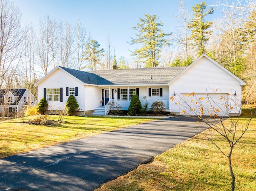
M 249 110 L 243 110 L 240 124 L 245 125 Z M 207 130 L 204 132 L 207 133 Z M 218 134 L 217 144 L 228 151 L 227 142 Z M 236 191 L 256 190 L 256 117 L 232 154 Z M 228 160 L 203 134 L 198 134 L 157 156 L 152 163 L 96 191 L 230 191 Z

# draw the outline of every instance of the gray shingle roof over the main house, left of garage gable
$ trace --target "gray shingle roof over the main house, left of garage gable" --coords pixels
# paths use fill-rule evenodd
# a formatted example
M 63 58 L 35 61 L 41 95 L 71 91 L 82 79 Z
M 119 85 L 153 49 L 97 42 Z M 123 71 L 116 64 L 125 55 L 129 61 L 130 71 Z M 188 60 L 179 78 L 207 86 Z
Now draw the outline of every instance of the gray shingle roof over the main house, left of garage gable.
M 122 70 L 78 71 L 64 68 L 65 71 L 84 83 L 95 85 L 126 84 L 167 84 L 186 67 L 159 67 Z M 88 81 L 90 77 L 90 81 Z

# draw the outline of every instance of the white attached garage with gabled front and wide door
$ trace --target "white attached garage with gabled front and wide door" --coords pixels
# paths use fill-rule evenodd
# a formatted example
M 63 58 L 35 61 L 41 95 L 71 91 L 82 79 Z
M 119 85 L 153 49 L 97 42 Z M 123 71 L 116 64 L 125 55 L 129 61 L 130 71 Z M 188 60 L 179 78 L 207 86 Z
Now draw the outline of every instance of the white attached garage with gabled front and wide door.
M 243 85 L 244 81 L 203 54 L 170 81 L 170 114 L 240 115 Z

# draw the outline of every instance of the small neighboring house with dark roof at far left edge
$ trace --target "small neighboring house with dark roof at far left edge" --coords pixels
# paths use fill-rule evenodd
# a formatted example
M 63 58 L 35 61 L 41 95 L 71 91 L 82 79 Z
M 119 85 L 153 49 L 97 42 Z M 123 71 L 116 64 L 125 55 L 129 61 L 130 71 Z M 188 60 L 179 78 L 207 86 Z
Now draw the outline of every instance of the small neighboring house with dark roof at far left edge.
M 34 102 L 35 96 L 28 89 L 0 89 L 0 111 L 19 112 L 28 102 Z

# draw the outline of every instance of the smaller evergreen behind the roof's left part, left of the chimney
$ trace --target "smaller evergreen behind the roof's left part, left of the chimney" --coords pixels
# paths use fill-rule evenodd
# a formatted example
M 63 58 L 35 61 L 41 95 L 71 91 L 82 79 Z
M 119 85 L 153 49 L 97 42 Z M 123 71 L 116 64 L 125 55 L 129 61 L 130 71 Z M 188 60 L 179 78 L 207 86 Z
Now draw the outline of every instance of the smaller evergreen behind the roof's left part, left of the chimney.
M 100 65 L 100 58 L 104 56 L 104 52 L 104 49 L 100 49 L 100 44 L 95 40 L 91 40 L 86 44 L 86 51 L 83 52 L 83 57 L 84 60 L 89 62 L 88 67 L 91 70 L 96 70 L 97 66 Z

